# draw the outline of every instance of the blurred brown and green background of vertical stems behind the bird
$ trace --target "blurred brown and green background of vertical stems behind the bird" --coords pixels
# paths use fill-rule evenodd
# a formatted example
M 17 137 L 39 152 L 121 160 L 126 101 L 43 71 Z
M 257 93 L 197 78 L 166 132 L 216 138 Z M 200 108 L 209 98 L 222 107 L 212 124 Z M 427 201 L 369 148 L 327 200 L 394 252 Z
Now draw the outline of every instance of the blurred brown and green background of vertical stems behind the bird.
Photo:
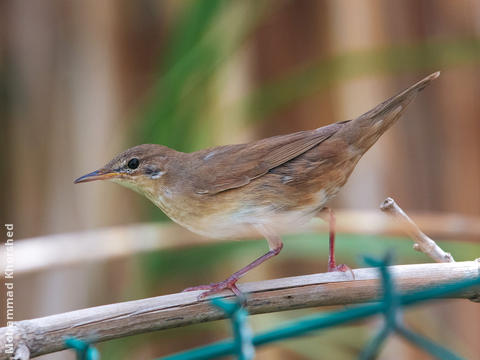
M 479 1 L 6 0 L 0 35 L 0 211 L 17 244 L 78 232 L 75 247 L 85 230 L 167 224 L 125 188 L 72 183 L 130 146 L 188 152 L 312 129 L 356 117 L 437 70 L 441 77 L 364 156 L 331 206 L 375 211 L 392 196 L 412 214 L 480 216 Z M 457 260 L 480 256 L 478 234 L 437 238 Z M 325 234 L 289 236 L 278 258 L 245 279 L 324 271 L 327 242 Z M 339 234 L 337 257 L 363 266 L 359 255 L 388 248 L 397 263 L 430 262 L 406 239 L 365 234 Z M 15 319 L 223 280 L 265 250 L 263 241 L 221 242 L 19 273 Z M 324 310 L 250 320 L 260 331 Z M 478 359 L 478 305 L 429 303 L 406 319 Z M 281 342 L 257 358 L 352 359 L 378 324 Z M 99 348 L 104 359 L 151 359 L 229 335 L 228 322 L 218 321 Z M 390 339 L 380 358 L 429 357 Z

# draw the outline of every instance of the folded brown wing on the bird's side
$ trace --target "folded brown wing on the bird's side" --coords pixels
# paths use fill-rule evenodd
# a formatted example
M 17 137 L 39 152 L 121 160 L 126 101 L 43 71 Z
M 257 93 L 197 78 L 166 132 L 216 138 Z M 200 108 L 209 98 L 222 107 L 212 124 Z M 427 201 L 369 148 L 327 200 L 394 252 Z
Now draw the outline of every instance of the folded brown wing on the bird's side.
M 328 139 L 344 123 L 199 151 L 195 153 L 199 176 L 191 179 L 193 188 L 199 194 L 216 194 L 244 186 Z

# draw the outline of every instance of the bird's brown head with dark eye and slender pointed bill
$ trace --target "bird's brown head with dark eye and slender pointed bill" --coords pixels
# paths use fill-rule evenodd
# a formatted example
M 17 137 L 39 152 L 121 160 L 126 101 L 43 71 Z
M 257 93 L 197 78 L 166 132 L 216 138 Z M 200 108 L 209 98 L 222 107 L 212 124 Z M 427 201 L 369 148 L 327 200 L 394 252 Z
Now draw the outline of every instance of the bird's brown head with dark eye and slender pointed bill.
M 174 153 L 178 154 L 161 145 L 138 145 L 115 156 L 104 167 L 79 177 L 74 183 L 111 180 L 137 192 L 148 193 L 162 181 Z

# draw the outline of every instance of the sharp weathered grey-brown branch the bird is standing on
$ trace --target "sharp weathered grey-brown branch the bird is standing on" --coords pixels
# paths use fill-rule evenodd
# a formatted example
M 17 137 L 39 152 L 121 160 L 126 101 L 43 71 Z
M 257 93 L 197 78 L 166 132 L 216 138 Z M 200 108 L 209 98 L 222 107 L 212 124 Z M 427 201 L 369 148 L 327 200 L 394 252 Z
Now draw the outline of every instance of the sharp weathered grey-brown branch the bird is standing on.
M 445 282 L 478 278 L 480 261 L 392 266 L 396 285 L 402 291 L 417 290 Z M 379 296 L 377 269 L 350 273 L 332 272 L 241 284 L 248 293 L 247 308 L 260 314 L 372 301 Z M 199 292 L 178 293 L 72 311 L 14 323 L 0 329 L 0 359 L 5 354 L 7 333 L 13 332 L 15 348 L 28 347 L 31 356 L 65 348 L 67 337 L 99 342 L 133 334 L 167 329 L 224 318 L 208 300 L 197 300 Z M 221 293 L 231 297 L 229 292 Z M 457 298 L 480 300 L 480 289 L 456 294 Z

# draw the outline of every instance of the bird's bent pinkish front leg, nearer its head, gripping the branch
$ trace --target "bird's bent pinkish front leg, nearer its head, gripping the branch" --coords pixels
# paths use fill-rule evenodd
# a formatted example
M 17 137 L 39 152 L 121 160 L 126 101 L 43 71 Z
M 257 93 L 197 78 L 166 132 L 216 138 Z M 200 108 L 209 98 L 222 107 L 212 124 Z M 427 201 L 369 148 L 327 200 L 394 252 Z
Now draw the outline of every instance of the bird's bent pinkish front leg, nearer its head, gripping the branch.
M 272 235 L 268 234 L 265 236 L 268 245 L 270 247 L 270 251 L 268 251 L 266 254 L 260 256 L 258 259 L 252 261 L 250 264 L 247 266 L 241 268 L 237 272 L 233 273 L 230 275 L 227 279 L 220 281 L 218 283 L 212 283 L 209 285 L 199 285 L 199 286 L 193 286 L 189 287 L 183 291 L 194 291 L 194 290 L 206 290 L 205 292 L 201 293 L 198 298 L 203 299 L 209 295 L 216 294 L 224 289 L 230 289 L 232 292 L 238 296 L 239 298 L 244 298 L 244 295 L 240 291 L 240 289 L 237 287 L 237 281 L 245 275 L 247 272 L 252 270 L 253 268 L 257 267 L 261 263 L 267 261 L 271 257 L 274 257 L 275 255 L 278 255 L 280 251 L 283 248 L 283 243 L 277 235 Z

